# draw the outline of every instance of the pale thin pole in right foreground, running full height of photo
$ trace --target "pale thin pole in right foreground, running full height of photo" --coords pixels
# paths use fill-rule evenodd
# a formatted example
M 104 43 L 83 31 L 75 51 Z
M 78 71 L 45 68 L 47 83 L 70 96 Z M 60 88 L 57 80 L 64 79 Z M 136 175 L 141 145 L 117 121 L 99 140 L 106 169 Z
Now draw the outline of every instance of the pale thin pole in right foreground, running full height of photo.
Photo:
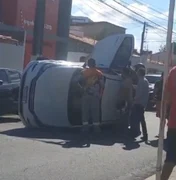
M 163 89 L 165 88 L 165 82 L 168 76 L 170 69 L 170 63 L 172 58 L 172 33 L 173 33 L 173 22 L 174 22 L 174 9 L 175 9 L 175 0 L 170 0 L 169 6 L 169 17 L 168 17 L 168 29 L 167 29 L 167 42 L 166 42 L 166 63 L 164 63 L 164 83 Z M 164 90 L 163 90 L 164 92 Z M 160 132 L 159 132 L 159 143 L 158 143 L 158 153 L 157 153 L 157 167 L 156 167 L 156 180 L 161 179 L 162 171 L 162 155 L 163 155 L 163 141 L 164 141 L 164 127 L 165 127 L 165 107 L 164 103 L 164 93 L 162 94 L 161 102 L 161 120 L 160 120 Z

